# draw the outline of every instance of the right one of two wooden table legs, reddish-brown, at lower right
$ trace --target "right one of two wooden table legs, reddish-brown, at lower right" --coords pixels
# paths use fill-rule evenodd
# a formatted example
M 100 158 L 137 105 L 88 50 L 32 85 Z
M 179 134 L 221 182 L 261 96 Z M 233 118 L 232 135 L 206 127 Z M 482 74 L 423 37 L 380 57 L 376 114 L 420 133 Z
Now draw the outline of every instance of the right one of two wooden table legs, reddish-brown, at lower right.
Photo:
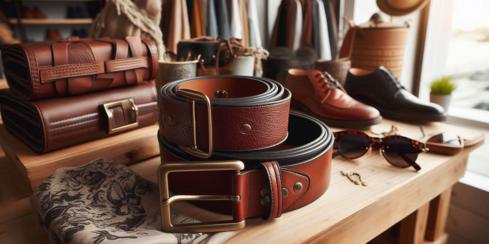
M 427 240 L 437 241 L 438 238 L 445 234 L 451 195 L 452 187 L 446 189 L 438 197 L 431 200 L 429 205 L 428 223 L 426 224 L 425 238 Z

